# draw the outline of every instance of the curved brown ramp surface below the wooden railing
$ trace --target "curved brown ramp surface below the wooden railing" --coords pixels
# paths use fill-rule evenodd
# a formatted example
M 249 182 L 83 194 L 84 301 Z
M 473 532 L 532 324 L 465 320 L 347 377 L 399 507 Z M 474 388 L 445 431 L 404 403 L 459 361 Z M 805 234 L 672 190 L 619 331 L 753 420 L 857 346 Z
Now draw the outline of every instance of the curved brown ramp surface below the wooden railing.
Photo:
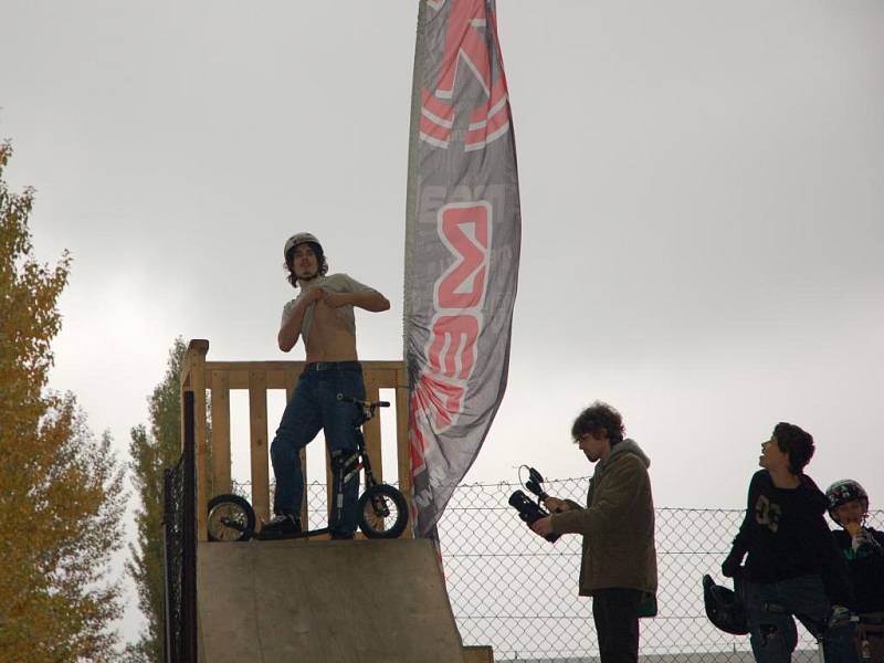
M 462 663 L 424 539 L 200 543 L 204 663 Z

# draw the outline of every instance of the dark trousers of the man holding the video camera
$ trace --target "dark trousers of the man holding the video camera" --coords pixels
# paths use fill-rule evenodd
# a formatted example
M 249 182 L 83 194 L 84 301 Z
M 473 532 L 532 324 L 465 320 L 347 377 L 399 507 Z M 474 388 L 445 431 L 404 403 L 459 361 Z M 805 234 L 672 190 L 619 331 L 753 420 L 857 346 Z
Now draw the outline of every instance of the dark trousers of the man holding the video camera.
M 638 589 L 596 589 L 592 591 L 592 619 L 599 636 L 601 663 L 636 663 L 639 660 Z

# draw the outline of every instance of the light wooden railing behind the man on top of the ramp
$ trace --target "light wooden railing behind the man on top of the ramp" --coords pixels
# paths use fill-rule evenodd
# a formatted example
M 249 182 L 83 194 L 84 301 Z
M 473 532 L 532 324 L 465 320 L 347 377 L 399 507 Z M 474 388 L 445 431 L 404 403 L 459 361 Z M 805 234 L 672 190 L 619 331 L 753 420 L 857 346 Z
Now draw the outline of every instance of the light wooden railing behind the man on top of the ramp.
M 230 391 L 249 390 L 250 457 L 252 506 L 261 519 L 270 518 L 270 472 L 267 435 L 267 390 L 285 389 L 286 402 L 292 398 L 303 361 L 208 361 L 209 341 L 191 340 L 181 366 L 181 394 L 194 396 L 194 431 L 197 465 L 197 537 L 204 541 L 207 511 L 211 496 L 231 492 Z M 408 380 L 403 361 L 362 361 L 366 398 L 379 400 L 380 389 L 396 389 L 396 443 L 399 487 L 410 499 L 411 462 L 408 453 Z M 209 466 L 209 439 L 207 402 L 211 398 L 211 466 Z M 379 412 L 382 412 L 380 410 Z M 366 446 L 371 457 L 375 475 L 382 480 L 380 415 L 362 428 Z M 183 434 L 182 434 L 183 439 Z M 302 451 L 304 483 L 307 471 Z M 326 462 L 326 477 L 330 470 Z M 209 481 L 208 474 L 211 474 Z M 326 482 L 330 486 L 332 482 Z M 307 494 L 302 507 L 302 522 L 307 523 Z M 403 536 L 411 536 L 411 527 Z

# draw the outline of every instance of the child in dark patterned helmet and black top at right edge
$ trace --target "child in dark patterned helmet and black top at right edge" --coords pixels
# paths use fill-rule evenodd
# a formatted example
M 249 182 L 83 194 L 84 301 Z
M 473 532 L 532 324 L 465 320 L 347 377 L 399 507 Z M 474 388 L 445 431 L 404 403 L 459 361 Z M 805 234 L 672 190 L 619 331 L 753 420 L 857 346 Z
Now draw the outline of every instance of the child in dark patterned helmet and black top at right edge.
M 857 640 L 867 660 L 884 661 L 884 533 L 866 527 L 869 494 L 852 478 L 836 481 L 825 491 L 829 516 L 842 529 L 835 543 L 848 562 L 860 613 Z

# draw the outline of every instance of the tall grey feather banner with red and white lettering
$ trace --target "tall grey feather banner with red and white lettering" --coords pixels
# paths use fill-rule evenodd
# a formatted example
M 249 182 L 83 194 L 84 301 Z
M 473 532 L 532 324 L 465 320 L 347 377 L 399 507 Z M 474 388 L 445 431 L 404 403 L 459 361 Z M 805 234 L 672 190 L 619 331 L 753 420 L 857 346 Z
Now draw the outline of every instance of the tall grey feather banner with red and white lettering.
M 421 0 L 404 355 L 419 535 L 434 536 L 506 389 L 522 220 L 494 0 Z

